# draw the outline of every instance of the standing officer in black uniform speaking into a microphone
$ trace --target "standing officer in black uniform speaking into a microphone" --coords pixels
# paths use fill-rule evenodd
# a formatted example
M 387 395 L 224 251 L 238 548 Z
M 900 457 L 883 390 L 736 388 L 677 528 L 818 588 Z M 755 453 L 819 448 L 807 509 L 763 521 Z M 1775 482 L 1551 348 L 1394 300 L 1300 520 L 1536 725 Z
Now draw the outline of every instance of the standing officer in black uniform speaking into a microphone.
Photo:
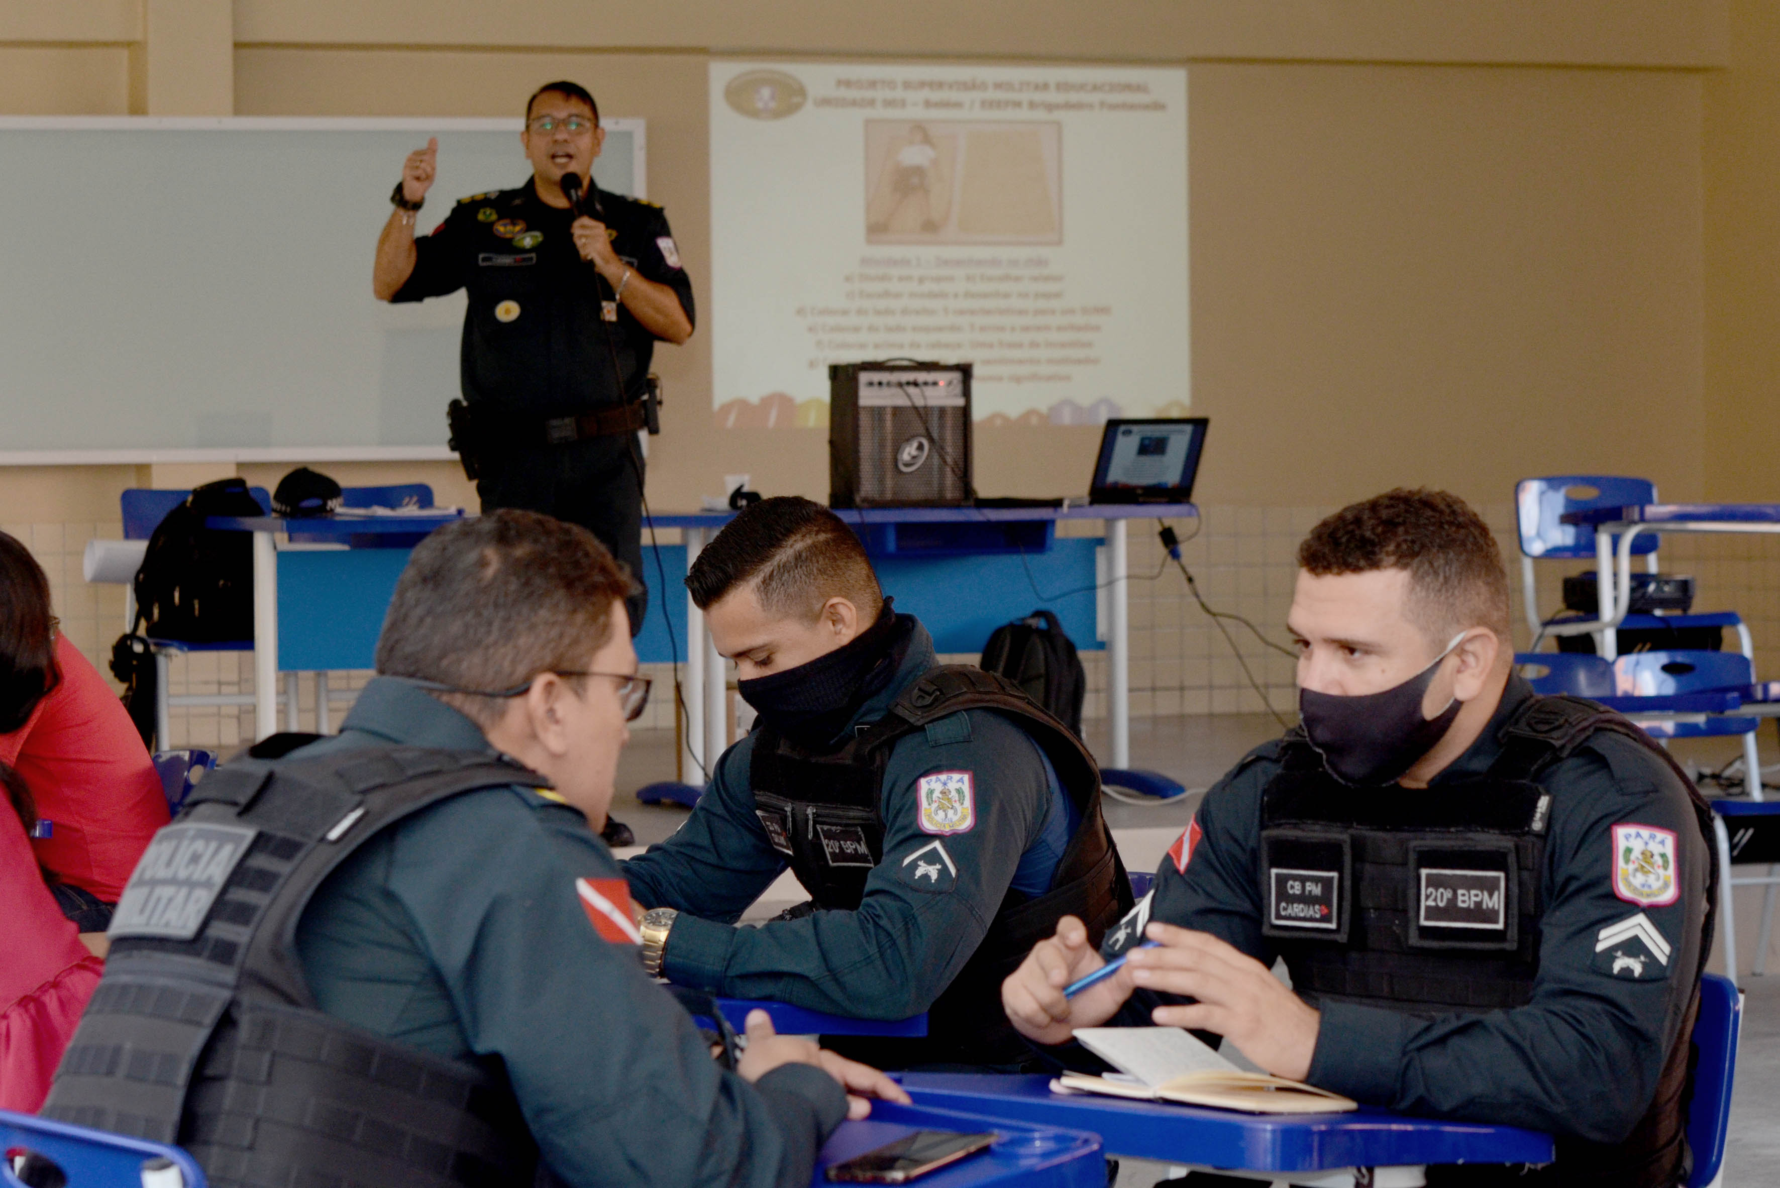
M 539 87 L 520 140 L 530 181 L 459 199 L 418 238 L 438 140 L 409 153 L 372 288 L 381 301 L 470 293 L 466 413 L 452 439 L 475 471 L 482 510 L 522 507 L 582 525 L 641 578 L 641 400 L 655 340 L 692 336 L 692 281 L 660 206 L 593 183 L 605 130 L 584 87 Z M 578 208 L 562 192 L 570 174 L 584 190 Z M 627 608 L 635 635 L 648 608 L 641 583 Z

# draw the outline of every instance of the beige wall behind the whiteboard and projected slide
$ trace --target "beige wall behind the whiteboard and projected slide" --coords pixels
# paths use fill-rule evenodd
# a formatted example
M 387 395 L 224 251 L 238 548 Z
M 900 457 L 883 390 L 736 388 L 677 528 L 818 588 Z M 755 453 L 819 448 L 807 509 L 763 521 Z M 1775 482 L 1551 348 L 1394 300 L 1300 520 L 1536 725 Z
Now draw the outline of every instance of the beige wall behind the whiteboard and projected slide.
M 1780 498 L 1766 478 L 1780 445 L 1776 9 L 9 0 L 0 112 L 481 116 L 514 112 L 543 78 L 580 78 L 607 112 L 650 121 L 650 196 L 705 295 L 712 53 L 1187 64 L 1193 389 L 1214 420 L 1203 502 L 1296 525 L 1385 486 L 1440 484 L 1499 518 L 1517 477 L 1554 470 L 1646 473 L 1671 498 Z M 708 341 L 657 352 L 669 402 L 653 503 L 685 507 L 728 471 L 822 494 L 821 432 L 712 429 Z M 979 486 L 1073 491 L 1096 439 L 984 430 Z M 328 470 L 470 500 L 450 464 Z M 5 471 L 0 521 L 103 532 L 116 491 L 148 480 Z M 1686 557 L 1712 574 L 1707 599 L 1766 598 L 1757 558 Z M 1264 564 L 1289 573 L 1289 557 Z M 1234 569 L 1226 592 L 1273 619 L 1276 587 Z M 93 635 L 109 630 L 96 619 Z M 1169 679 L 1198 678 L 1157 678 L 1157 692 Z M 1171 704 L 1187 701 L 1155 701 Z

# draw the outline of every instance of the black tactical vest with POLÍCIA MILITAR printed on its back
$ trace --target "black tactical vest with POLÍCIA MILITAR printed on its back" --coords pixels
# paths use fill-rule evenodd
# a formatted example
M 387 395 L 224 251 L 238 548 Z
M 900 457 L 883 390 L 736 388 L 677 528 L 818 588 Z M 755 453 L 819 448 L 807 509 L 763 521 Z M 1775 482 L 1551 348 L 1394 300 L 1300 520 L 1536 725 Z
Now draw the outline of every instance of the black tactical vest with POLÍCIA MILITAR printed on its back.
M 393 747 L 244 759 L 155 834 L 44 1117 L 176 1142 L 219 1188 L 530 1188 L 498 1062 L 445 1060 L 315 1007 L 313 891 L 384 827 L 477 788 L 548 786 L 493 752 Z

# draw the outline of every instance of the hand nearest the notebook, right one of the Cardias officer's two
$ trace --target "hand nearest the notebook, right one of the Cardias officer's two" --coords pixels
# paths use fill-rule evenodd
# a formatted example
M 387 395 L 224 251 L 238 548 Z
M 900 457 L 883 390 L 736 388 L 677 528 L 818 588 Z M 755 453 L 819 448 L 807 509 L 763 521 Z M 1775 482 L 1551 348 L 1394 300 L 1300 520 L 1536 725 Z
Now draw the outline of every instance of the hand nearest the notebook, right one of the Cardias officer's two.
M 1132 950 L 1125 962 L 1132 982 L 1198 999 L 1189 1007 L 1157 1007 L 1152 1019 L 1159 1026 L 1216 1031 L 1267 1072 L 1305 1080 L 1323 1023 L 1315 1008 L 1271 969 L 1209 932 L 1152 923 L 1145 935 L 1161 948 Z

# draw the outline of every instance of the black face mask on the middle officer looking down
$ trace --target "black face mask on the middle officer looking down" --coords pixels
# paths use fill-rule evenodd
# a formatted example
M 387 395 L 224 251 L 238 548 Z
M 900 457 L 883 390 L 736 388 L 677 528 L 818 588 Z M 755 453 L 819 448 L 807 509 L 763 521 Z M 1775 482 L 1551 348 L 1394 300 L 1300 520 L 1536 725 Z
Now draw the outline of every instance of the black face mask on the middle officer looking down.
M 890 685 L 911 631 L 913 619 L 897 617 L 886 598 L 878 621 L 853 640 L 796 669 L 737 681 L 735 692 L 762 724 L 801 747 L 822 749 Z

